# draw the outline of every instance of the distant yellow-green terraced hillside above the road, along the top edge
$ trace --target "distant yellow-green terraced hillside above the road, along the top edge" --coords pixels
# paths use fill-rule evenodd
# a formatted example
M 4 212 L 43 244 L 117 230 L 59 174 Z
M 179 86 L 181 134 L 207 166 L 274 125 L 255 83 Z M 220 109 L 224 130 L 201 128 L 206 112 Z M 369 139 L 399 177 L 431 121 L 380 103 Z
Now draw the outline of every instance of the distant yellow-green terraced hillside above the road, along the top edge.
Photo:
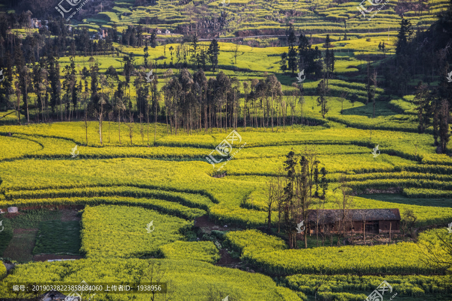
M 402 14 L 403 18 L 411 21 L 416 28 L 425 29 L 435 20 L 434 14 L 447 7 L 446 0 L 429 0 L 422 3 L 390 0 L 376 2 L 384 4 L 382 10 L 374 16 L 372 15 L 375 10 L 364 16 L 357 9 L 363 3 L 355 1 L 228 0 L 224 6 L 220 0 L 209 3 L 199 0 L 188 4 L 175 0 L 159 0 L 156 5 L 148 7 L 134 7 L 133 3 L 134 1 L 117 2 L 111 10 L 99 12 L 95 17 L 83 20 L 80 26 L 96 28 L 116 24 L 122 29 L 140 22 L 145 24 L 143 20 L 152 20 L 152 26 L 145 27 L 169 29 L 174 32 L 183 27 L 199 26 L 206 20 L 226 16 L 227 25 L 223 28 L 223 38 L 284 35 L 286 23 L 289 21 L 297 31 L 308 35 L 333 34 L 331 37 L 334 41 L 345 33 L 353 37 L 368 32 L 388 33 L 388 30 L 391 30 L 394 34 Z M 368 9 L 370 5 L 365 2 L 363 6 Z M 206 28 L 199 28 L 198 31 L 207 33 Z M 162 35 L 159 38 L 165 39 L 168 36 Z

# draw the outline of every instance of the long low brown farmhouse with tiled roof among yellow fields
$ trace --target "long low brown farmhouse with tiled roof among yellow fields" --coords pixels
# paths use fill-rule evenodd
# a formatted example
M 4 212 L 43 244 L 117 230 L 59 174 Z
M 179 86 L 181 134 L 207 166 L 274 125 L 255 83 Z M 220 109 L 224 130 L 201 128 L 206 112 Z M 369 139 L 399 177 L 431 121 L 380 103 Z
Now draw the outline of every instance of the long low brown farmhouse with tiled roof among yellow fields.
M 323 209 L 311 210 L 307 218 L 308 233 L 342 232 L 350 233 L 400 233 L 399 209 Z

